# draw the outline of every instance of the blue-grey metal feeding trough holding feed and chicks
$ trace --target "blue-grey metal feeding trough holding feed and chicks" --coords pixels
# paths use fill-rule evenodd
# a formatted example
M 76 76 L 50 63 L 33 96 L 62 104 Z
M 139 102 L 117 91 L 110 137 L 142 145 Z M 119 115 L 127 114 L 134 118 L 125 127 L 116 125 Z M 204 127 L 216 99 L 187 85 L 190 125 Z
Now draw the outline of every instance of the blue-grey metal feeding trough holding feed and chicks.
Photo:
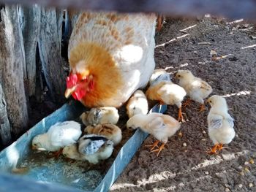
M 165 105 L 156 105 L 151 112 L 165 112 L 166 109 Z M 62 157 L 48 158 L 47 153 L 38 153 L 31 150 L 31 140 L 37 134 L 45 133 L 50 126 L 57 122 L 78 120 L 79 115 L 84 110 L 84 107 L 75 101 L 64 104 L 59 110 L 43 118 L 12 145 L 2 150 L 0 153 L 0 191 L 26 191 L 25 188 L 28 187 L 29 183 L 23 185 L 26 186 L 25 188 L 18 188 L 19 179 L 23 180 L 24 178 L 26 181 L 31 180 L 31 183 L 33 180 L 37 183 L 44 183 L 44 186 L 48 186 L 48 192 L 51 191 L 50 188 L 54 191 L 52 186 L 56 183 L 57 185 L 63 185 L 64 191 L 108 191 L 148 134 L 139 129 L 135 131 L 135 134 L 118 151 L 113 164 L 105 173 L 94 169 L 86 171 L 85 167 L 89 164 L 84 161 L 70 162 Z M 8 174 L 17 171 L 15 168 L 20 169 L 22 167 L 26 167 L 27 170 L 19 175 L 20 178 L 8 177 Z M 6 183 L 6 185 L 3 185 L 3 183 Z M 13 183 L 13 185 L 10 185 L 10 183 Z M 16 187 L 15 184 L 17 184 Z M 34 183 L 33 185 L 41 184 Z M 37 190 L 37 187 L 33 190 Z

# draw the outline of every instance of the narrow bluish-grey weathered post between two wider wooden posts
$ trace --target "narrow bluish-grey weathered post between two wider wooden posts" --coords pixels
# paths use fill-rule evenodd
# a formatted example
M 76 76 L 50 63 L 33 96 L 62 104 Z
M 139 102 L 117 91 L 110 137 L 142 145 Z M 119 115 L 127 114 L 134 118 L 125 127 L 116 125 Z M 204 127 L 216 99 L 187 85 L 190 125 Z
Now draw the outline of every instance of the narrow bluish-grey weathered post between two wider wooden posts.
M 23 42 L 26 55 L 25 81 L 28 82 L 29 96 L 34 96 L 36 88 L 36 49 L 41 24 L 41 7 L 20 7 Z

